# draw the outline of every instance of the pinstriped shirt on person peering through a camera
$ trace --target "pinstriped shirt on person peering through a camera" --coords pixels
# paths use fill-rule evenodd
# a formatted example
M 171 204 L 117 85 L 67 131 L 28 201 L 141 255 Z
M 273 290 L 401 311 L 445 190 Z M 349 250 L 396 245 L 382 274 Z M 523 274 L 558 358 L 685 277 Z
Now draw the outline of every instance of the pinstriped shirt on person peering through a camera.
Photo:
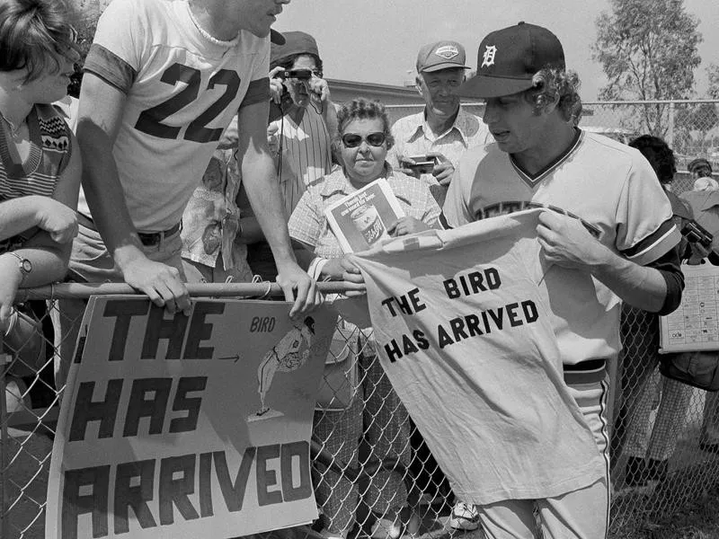
M 292 163 L 294 174 L 282 174 L 280 190 L 285 199 L 288 215 L 297 206 L 307 185 L 329 174 L 332 170 L 330 133 L 324 118 L 312 106 L 306 107 L 299 124 L 289 115 L 275 120 L 282 143 L 282 152 Z

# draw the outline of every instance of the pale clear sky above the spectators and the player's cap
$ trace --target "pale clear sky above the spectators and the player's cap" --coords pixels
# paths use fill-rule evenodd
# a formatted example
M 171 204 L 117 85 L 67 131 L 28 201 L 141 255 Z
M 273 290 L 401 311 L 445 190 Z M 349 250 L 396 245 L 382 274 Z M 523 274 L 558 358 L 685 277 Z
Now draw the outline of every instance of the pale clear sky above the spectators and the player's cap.
M 719 64 L 719 1 L 685 0 L 684 5 L 699 18 L 704 37 L 699 45 L 702 64 L 695 72 L 702 96 L 706 66 Z M 312 34 L 327 78 L 402 85 L 413 80 L 417 51 L 425 43 L 456 40 L 475 68 L 484 35 L 532 22 L 562 41 L 567 66 L 580 75 L 581 97 L 590 102 L 607 83 L 590 47 L 597 37 L 597 17 L 608 9 L 608 0 L 292 0 L 274 28 Z

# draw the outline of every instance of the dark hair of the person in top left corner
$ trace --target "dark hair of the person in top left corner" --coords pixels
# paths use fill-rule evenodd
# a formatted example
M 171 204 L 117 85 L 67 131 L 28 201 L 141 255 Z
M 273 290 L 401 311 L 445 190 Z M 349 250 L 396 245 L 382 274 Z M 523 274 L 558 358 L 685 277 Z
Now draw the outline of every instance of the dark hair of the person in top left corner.
M 67 22 L 67 4 L 60 0 L 0 2 L 0 71 L 27 69 L 24 82 L 37 79 L 59 56 L 75 49 L 75 29 Z

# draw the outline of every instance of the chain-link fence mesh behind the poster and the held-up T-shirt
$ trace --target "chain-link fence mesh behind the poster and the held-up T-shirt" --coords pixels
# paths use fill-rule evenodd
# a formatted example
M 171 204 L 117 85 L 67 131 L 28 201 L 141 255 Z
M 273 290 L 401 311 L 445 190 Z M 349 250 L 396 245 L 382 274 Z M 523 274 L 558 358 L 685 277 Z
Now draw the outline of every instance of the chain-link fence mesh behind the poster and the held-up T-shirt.
M 103 287 L 107 293 L 119 292 L 111 285 Z M 217 292 L 204 296 L 229 295 L 226 287 L 214 287 Z M 56 297 L 59 288 L 53 290 Z M 47 289 L 25 297 L 43 294 L 49 296 Z M 68 295 L 73 296 L 72 290 Z M 61 395 L 54 383 L 49 317 L 56 308 L 54 301 L 25 301 L 19 305 L 21 318 L 14 331 L 4 339 L 3 539 L 44 536 L 49 460 Z M 719 434 L 719 429 L 712 430 L 719 427 L 717 393 L 659 376 L 656 316 L 626 309 L 622 336 L 626 349 L 613 384 L 611 536 L 617 539 L 630 536 L 629 531 L 647 519 L 670 516 L 719 482 L 715 458 L 719 445 L 708 437 Z M 328 525 L 347 530 L 351 538 L 395 537 L 402 532 L 414 537 L 471 535 L 449 526 L 456 500 L 448 481 L 389 384 L 367 337 L 341 320 L 325 365 L 312 443 L 321 517 L 312 527 L 273 535 L 306 539 L 318 536 Z M 719 437 L 715 443 L 719 444 Z

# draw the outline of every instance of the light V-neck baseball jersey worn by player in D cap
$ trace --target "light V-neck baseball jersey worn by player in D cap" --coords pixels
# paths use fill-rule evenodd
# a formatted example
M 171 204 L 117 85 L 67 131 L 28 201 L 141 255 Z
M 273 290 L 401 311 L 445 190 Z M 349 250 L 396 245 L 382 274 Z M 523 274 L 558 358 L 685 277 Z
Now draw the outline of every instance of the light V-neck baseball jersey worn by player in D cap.
M 527 208 L 529 202 L 581 218 L 599 242 L 640 265 L 656 261 L 681 240 L 670 202 L 644 156 L 579 129 L 564 154 L 537 174 L 523 171 L 495 144 L 467 152 L 449 185 L 442 220 L 465 225 Z M 617 356 L 619 297 L 579 270 L 553 266 L 546 278 L 591 279 L 595 288 L 587 294 L 587 288 L 566 293 L 547 287 L 564 364 Z

